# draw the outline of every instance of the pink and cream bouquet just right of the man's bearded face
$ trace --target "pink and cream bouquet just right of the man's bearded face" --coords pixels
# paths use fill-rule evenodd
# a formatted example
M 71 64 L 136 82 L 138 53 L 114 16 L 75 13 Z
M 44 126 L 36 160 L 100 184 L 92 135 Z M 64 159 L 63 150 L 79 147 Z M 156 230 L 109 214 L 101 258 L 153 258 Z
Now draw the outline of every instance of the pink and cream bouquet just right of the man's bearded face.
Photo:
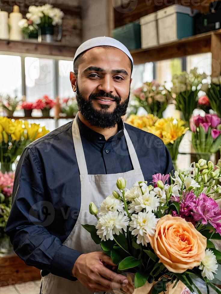
M 141 88 L 133 91 L 134 99 L 131 101 L 131 114 L 136 114 L 139 107 L 143 107 L 149 114 L 162 117 L 170 101 L 170 92 L 155 80 L 146 82 Z

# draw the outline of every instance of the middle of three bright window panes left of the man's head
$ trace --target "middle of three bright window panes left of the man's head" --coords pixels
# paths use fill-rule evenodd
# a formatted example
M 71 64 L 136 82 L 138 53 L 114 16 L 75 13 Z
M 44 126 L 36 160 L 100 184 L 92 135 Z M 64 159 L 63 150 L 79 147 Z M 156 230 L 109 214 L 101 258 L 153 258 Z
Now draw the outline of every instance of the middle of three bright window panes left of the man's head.
M 25 57 L 26 100 L 35 101 L 43 95 L 55 98 L 55 61 L 48 58 Z

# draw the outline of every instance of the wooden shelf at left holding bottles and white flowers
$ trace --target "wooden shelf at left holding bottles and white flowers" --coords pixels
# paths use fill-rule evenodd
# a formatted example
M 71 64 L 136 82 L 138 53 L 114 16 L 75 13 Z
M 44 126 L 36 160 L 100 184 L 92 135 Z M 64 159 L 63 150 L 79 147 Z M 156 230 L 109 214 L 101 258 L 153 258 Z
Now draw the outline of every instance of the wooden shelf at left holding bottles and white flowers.
M 32 40 L 11 41 L 0 39 L 0 51 L 17 52 L 26 54 L 50 55 L 73 57 L 77 47 L 73 47 L 60 42 L 38 42 Z

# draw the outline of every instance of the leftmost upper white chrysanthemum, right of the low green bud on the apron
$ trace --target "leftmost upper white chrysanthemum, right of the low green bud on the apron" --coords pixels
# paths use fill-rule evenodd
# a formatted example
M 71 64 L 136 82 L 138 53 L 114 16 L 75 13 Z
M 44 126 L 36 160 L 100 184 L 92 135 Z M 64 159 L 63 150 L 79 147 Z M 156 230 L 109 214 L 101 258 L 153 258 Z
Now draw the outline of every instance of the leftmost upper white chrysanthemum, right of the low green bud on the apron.
M 108 196 L 100 205 L 99 214 L 105 215 L 108 211 L 124 211 L 124 202 L 116 199 L 113 195 Z

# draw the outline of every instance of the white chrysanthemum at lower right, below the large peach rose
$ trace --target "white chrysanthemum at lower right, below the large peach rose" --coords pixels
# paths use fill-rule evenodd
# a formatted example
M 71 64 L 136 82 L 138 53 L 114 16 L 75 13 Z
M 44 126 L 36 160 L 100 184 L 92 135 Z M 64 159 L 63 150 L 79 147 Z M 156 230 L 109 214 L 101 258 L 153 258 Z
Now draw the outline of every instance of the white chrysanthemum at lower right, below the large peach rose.
M 216 256 L 212 250 L 207 249 L 204 259 L 201 261 L 199 269 L 202 269 L 202 277 L 207 277 L 208 280 L 213 280 L 214 275 L 218 270 Z

